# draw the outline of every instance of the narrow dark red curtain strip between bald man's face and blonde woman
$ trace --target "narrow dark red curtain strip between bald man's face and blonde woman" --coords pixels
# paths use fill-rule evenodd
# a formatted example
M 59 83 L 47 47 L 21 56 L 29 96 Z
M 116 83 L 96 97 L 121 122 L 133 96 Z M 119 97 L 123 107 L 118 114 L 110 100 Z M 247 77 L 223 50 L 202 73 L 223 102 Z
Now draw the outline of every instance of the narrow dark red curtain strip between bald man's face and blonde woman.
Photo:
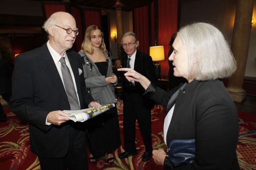
M 76 20 L 76 27 L 78 28 L 79 34 L 75 40 L 75 51 L 79 52 L 81 49 L 82 41 L 84 40 L 84 31 L 82 29 L 82 19 L 80 9 L 71 7 L 71 14 Z

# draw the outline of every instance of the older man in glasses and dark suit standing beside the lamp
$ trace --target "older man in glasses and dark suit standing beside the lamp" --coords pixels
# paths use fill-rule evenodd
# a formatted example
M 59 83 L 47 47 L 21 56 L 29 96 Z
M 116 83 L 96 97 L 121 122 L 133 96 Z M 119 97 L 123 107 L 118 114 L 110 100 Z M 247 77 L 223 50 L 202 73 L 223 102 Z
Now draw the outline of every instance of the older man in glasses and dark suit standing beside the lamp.
M 160 86 L 154 72 L 152 58 L 138 50 L 139 40 L 136 34 L 133 32 L 125 33 L 121 37 L 121 45 L 126 52 L 126 55 L 122 58 L 123 67 L 133 68 Z M 152 157 L 151 109 L 155 103 L 153 100 L 144 97 L 144 92 L 145 89 L 139 82 L 123 80 L 120 102 L 124 104 L 124 146 L 126 151 L 119 155 L 120 159 L 137 154 L 135 146 L 136 119 L 145 144 L 145 153 L 142 161 L 148 161 Z

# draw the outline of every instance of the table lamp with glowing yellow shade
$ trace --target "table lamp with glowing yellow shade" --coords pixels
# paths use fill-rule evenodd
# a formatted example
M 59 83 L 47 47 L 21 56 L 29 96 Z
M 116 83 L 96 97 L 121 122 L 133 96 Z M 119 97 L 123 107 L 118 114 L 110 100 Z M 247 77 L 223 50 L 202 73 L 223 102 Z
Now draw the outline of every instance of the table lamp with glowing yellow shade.
M 150 56 L 152 57 L 153 62 L 155 62 L 154 69 L 157 77 L 159 78 L 161 74 L 161 66 L 158 62 L 165 60 L 163 46 L 150 47 Z

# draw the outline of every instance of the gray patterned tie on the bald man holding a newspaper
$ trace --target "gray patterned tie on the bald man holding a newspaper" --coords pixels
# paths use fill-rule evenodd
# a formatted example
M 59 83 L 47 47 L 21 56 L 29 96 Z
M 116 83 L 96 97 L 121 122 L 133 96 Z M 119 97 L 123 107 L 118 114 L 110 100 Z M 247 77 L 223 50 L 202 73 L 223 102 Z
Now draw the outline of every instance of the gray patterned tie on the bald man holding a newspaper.
M 63 77 L 65 90 L 67 93 L 67 98 L 70 105 L 70 110 L 80 110 L 78 98 L 76 96 L 76 89 L 74 86 L 73 79 L 71 77 L 70 70 L 66 65 L 65 57 L 61 57 L 60 62 L 61 62 L 61 73 Z

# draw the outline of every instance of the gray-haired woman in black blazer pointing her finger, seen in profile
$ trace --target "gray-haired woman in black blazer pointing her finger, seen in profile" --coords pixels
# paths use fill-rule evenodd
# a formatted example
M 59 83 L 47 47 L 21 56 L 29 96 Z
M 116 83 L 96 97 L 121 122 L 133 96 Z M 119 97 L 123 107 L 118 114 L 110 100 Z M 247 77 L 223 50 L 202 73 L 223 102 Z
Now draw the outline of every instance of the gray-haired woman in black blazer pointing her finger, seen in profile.
M 146 90 L 145 96 L 167 106 L 164 120 L 167 146 L 173 140 L 195 139 L 192 164 L 174 167 L 163 149 L 153 151 L 154 161 L 165 170 L 239 170 L 238 114 L 219 80 L 230 77 L 236 70 L 227 41 L 213 25 L 192 23 L 180 29 L 173 48 L 169 60 L 173 61 L 174 75 L 186 78 L 188 84 L 168 92 L 135 70 L 118 69 L 127 71 L 124 76 L 128 81 L 139 82 Z

